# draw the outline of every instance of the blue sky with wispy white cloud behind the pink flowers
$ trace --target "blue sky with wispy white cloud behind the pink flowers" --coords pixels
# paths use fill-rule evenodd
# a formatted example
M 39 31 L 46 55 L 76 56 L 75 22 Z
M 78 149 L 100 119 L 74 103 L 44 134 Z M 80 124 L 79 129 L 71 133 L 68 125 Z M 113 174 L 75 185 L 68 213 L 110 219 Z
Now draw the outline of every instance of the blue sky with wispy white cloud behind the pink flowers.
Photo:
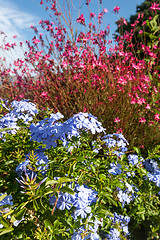
M 43 0 L 45 2 L 45 0 Z M 63 6 L 65 0 L 59 0 L 61 7 Z M 81 0 L 80 4 L 80 14 L 83 13 L 87 18 L 87 6 L 85 5 L 85 0 Z M 97 4 L 98 0 L 91 0 L 90 8 L 91 12 L 95 12 L 98 15 L 100 12 L 99 6 Z M 129 20 L 131 15 L 136 13 L 136 6 L 144 2 L 144 0 L 103 0 L 103 8 L 107 8 L 108 13 L 105 14 L 103 20 L 103 26 L 110 25 L 111 34 L 116 30 L 115 21 L 118 17 L 123 17 Z M 76 23 L 76 18 L 79 14 L 79 0 L 73 0 L 73 21 Z M 115 6 L 120 7 L 119 16 L 113 13 L 113 8 Z M 40 0 L 0 0 L 0 41 L 3 42 L 4 32 L 7 35 L 6 42 L 25 42 L 26 40 L 31 40 L 34 37 L 34 31 L 30 28 L 31 25 L 39 27 L 39 21 L 41 19 L 49 19 L 49 13 L 45 11 L 44 5 L 40 4 Z M 13 39 L 16 35 L 17 38 Z M 0 44 L 1 45 L 1 44 Z M 24 45 L 23 51 L 26 50 Z M 12 53 L 8 52 L 9 58 L 14 60 L 16 58 L 21 58 L 23 51 L 20 49 L 15 49 Z M 0 48 L 0 56 L 6 57 L 6 51 Z

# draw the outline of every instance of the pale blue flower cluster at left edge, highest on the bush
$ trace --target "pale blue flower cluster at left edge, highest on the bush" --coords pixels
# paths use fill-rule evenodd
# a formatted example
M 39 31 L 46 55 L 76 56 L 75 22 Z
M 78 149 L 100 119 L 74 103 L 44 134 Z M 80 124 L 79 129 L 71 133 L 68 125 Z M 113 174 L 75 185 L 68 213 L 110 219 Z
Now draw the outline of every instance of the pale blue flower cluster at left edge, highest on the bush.
M 4 104 L 2 106 L 4 106 Z M 21 119 L 24 123 L 27 124 L 28 122 L 32 121 L 33 116 L 38 113 L 36 105 L 28 102 L 28 100 L 14 100 L 11 103 L 11 108 L 8 110 L 10 110 L 10 112 L 0 119 L 0 129 L 12 128 L 11 130 L 7 130 L 7 132 L 11 134 L 15 134 L 16 130 L 19 129 L 19 127 L 17 126 L 18 120 Z M 4 134 L 5 131 L 1 132 L 0 138 L 2 138 Z

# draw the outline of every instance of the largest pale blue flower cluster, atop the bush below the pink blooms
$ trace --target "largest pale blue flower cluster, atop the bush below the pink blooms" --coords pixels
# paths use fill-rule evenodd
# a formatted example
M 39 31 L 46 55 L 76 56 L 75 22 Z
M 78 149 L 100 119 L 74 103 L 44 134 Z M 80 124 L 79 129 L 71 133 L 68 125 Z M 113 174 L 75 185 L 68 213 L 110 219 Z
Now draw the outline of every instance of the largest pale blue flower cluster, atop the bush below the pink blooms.
M 56 147 L 57 140 L 63 142 L 64 147 L 68 147 L 72 137 L 80 137 L 79 130 L 85 129 L 92 134 L 104 132 L 102 124 L 96 120 L 92 114 L 78 113 L 67 121 L 57 122 L 63 115 L 61 113 L 52 114 L 50 118 L 44 119 L 37 124 L 31 124 L 31 139 L 46 144 L 46 148 Z M 74 146 L 73 146 L 74 147 Z M 70 150 L 72 150 L 72 148 Z

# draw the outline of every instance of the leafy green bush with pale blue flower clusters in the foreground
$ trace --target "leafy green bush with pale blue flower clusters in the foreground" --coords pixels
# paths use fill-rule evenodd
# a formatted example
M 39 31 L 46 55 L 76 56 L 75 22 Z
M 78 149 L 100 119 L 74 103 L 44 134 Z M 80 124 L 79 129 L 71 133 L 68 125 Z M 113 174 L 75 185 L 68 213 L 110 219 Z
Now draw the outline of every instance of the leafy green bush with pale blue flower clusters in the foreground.
M 160 238 L 159 145 L 144 158 L 92 114 L 62 121 L 61 113 L 26 100 L 6 105 L 2 100 L 1 239 Z M 12 125 L 4 121 L 11 115 Z

